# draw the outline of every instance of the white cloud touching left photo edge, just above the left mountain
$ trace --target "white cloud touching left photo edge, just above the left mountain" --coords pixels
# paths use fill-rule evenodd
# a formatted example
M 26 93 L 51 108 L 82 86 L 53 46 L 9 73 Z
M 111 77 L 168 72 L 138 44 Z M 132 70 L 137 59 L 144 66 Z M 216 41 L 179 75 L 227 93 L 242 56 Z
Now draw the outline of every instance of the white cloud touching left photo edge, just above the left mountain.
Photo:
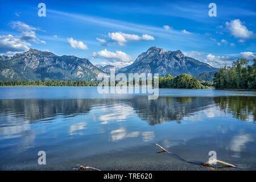
M 10 52 L 27 51 L 29 46 L 31 46 L 31 44 L 20 39 L 19 36 L 0 35 L 1 53 L 9 52 L 10 54 Z

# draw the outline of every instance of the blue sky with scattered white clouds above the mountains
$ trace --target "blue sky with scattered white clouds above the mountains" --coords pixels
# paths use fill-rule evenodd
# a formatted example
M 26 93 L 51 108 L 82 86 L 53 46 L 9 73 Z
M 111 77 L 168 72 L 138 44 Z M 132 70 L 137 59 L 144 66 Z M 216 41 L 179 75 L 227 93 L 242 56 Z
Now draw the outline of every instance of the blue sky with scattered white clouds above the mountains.
M 0 15 L 2 55 L 35 48 L 117 67 L 152 46 L 214 67 L 256 57 L 255 1 L 1 1 Z

